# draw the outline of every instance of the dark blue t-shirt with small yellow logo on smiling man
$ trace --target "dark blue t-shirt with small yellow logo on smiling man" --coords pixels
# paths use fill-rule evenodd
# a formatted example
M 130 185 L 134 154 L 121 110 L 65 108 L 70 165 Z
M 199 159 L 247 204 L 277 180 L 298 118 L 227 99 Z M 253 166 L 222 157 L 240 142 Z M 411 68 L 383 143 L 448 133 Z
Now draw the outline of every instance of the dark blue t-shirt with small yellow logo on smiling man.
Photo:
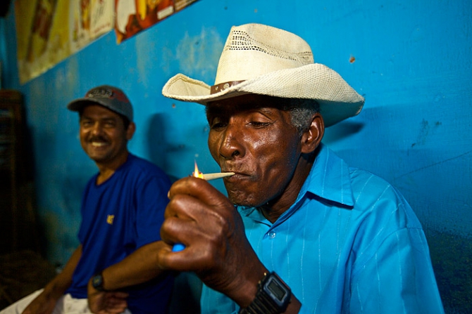
M 139 247 L 161 240 L 170 179 L 147 160 L 128 155 L 107 181 L 87 183 L 82 199 L 79 240 L 82 256 L 68 289 L 74 298 L 87 298 L 90 277 L 125 259 Z M 132 313 L 166 313 L 173 277 L 161 275 L 123 289 L 130 293 Z

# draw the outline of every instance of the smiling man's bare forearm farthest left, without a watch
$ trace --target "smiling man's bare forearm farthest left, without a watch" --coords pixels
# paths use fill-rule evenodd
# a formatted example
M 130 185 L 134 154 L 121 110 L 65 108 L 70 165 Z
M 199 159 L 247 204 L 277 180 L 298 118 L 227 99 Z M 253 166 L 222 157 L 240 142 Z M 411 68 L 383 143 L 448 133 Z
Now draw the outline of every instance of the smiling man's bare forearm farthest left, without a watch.
M 24 314 L 52 313 L 58 299 L 72 283 L 72 275 L 82 256 L 82 245 L 75 249 L 63 271 L 46 284 L 44 290 L 23 311 Z

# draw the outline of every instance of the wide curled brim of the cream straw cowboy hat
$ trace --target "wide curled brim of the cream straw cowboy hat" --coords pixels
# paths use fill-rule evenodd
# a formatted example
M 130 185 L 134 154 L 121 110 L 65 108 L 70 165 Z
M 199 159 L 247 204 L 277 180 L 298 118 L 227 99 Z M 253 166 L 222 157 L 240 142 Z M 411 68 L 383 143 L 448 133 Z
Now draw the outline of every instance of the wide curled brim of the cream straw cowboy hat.
M 364 106 L 364 97 L 354 91 L 340 74 L 320 63 L 264 74 L 218 93 L 212 94 L 210 89 L 203 81 L 177 74 L 167 81 L 162 93 L 168 98 L 201 105 L 248 93 L 313 99 L 320 105 L 325 126 L 358 115 Z

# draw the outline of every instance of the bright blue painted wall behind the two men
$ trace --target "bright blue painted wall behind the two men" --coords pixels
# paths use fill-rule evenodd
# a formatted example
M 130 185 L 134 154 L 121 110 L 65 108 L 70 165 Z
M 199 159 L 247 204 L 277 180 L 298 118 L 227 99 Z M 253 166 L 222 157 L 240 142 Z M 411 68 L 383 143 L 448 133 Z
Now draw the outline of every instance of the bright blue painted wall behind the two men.
M 361 115 L 324 142 L 401 190 L 426 230 L 447 313 L 471 313 L 471 16 L 466 0 L 199 0 L 120 45 L 110 32 L 20 86 L 11 6 L 0 24 L 2 85 L 25 96 L 48 259 L 64 263 L 77 245 L 82 188 L 97 171 L 66 104 L 92 86 L 120 86 L 135 106 L 132 152 L 175 178 L 194 160 L 217 171 L 203 107 L 161 89 L 178 72 L 213 84 L 230 27 L 261 22 L 299 34 L 316 62 L 365 96 Z

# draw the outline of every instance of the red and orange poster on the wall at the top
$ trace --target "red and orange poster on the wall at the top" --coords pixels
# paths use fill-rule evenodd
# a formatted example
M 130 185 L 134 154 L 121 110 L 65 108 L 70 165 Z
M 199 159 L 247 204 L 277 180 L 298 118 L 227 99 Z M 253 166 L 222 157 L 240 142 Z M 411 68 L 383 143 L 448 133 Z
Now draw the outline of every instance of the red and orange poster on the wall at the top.
M 197 0 L 116 0 L 115 32 L 120 44 Z

